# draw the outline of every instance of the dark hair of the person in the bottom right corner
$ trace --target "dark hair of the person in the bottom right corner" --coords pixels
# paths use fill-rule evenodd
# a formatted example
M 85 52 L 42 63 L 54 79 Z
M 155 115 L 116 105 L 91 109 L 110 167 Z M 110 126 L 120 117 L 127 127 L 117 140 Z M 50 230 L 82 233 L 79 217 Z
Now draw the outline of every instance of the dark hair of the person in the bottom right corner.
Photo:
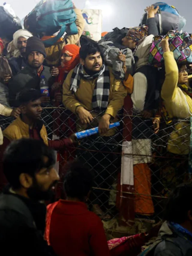
M 192 197 L 192 184 L 182 184 L 177 186 L 170 194 L 167 201 L 164 219 L 182 224 L 188 220 L 187 213 L 192 211 L 192 204 L 187 198 Z

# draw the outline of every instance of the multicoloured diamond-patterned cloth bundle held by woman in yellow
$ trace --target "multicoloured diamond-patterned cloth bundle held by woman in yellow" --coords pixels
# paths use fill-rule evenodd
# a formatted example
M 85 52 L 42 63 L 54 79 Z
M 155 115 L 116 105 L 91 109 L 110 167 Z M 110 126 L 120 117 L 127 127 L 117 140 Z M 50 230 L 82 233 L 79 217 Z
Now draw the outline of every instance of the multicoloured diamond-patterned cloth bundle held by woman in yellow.
M 192 63 L 192 37 L 187 32 L 170 31 L 165 36 L 157 36 L 152 43 L 149 64 L 161 67 L 164 62 L 163 49 L 161 47 L 161 40 L 169 37 L 170 50 L 178 63 Z

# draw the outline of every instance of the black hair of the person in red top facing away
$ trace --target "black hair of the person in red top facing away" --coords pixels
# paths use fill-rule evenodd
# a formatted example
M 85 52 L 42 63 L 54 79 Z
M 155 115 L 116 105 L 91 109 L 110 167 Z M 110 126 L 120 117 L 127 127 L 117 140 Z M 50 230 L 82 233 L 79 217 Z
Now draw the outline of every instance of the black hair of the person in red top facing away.
M 77 160 L 68 164 L 64 177 L 64 191 L 68 197 L 83 201 L 92 185 L 93 175 L 87 166 Z

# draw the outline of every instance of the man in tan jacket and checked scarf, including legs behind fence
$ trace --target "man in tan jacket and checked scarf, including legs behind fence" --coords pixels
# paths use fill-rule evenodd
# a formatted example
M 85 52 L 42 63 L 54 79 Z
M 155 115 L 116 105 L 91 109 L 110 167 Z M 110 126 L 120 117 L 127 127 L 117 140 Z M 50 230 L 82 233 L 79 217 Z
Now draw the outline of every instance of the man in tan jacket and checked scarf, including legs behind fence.
M 111 69 L 104 65 L 98 45 L 83 45 L 79 52 L 80 65 L 71 70 L 63 84 L 63 104 L 75 113 L 79 121 L 77 130 L 99 126 L 101 136 L 91 136 L 83 140 L 82 148 L 95 150 L 79 152 L 82 161 L 86 161 L 95 170 L 95 183 L 99 188 L 110 188 L 117 170 L 114 161 L 117 155 L 103 155 L 102 151 L 116 151 L 118 139 L 109 137 L 115 134 L 109 131 L 110 121 L 114 122 L 122 108 L 127 92 L 120 80 L 116 80 Z M 111 146 L 110 143 L 115 144 Z M 116 158 L 114 160 L 114 158 Z M 114 168 L 114 170 L 113 170 Z M 110 180 L 109 180 L 110 179 Z M 93 195 L 92 195 L 93 196 Z M 98 189 L 92 198 L 94 211 L 101 218 L 107 218 L 100 205 L 108 202 L 109 195 Z M 93 197 L 94 197 L 93 196 Z M 99 201 L 99 202 L 98 202 Z

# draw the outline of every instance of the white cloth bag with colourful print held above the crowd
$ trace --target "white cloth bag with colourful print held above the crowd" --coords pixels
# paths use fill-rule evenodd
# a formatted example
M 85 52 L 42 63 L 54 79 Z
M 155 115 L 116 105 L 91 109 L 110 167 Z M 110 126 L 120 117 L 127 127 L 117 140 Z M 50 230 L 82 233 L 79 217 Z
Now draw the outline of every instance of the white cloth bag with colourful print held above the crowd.
M 94 41 L 101 40 L 102 11 L 83 9 L 82 16 L 85 19 L 85 27 L 82 35 Z

